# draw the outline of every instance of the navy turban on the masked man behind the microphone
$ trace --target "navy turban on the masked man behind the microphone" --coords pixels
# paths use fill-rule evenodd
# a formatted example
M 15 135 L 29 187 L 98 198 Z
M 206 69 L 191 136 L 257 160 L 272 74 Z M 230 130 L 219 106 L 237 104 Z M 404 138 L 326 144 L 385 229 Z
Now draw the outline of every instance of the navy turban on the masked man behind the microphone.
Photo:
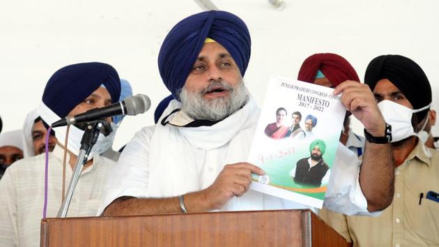
M 121 96 L 121 80 L 116 70 L 106 63 L 77 63 L 50 77 L 43 93 L 43 103 L 59 117 L 66 117 L 79 103 L 104 84 L 116 103 Z

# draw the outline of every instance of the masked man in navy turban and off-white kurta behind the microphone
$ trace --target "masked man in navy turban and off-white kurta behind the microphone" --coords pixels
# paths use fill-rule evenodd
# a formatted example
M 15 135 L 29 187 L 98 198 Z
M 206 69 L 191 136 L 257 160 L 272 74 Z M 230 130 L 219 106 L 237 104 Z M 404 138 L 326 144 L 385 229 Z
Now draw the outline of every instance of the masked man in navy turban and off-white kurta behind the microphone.
M 78 63 L 59 69 L 46 84 L 38 115 L 45 125 L 66 116 L 104 107 L 119 100 L 121 82 L 105 63 Z M 109 126 L 110 119 L 107 120 Z M 79 128 L 78 128 L 79 126 Z M 70 126 L 66 156 L 66 185 L 79 153 L 84 130 Z M 63 154 L 66 127 L 55 128 L 56 146 L 48 153 L 47 217 L 56 217 L 63 194 Z M 106 130 L 109 132 L 109 128 Z M 116 163 L 100 156 L 100 134 L 75 188 L 68 217 L 94 216 L 102 188 Z M 24 158 L 6 170 L 0 181 L 0 246 L 40 246 L 40 220 L 45 206 L 45 154 Z M 66 193 L 66 192 L 65 192 Z

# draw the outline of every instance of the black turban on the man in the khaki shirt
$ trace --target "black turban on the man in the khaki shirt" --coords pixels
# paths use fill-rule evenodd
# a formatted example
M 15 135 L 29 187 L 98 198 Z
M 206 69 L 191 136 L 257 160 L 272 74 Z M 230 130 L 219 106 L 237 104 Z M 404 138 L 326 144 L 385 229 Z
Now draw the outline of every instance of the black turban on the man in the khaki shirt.
M 422 108 L 431 103 L 431 86 L 429 79 L 415 61 L 400 55 L 383 55 L 373 59 L 367 66 L 364 83 L 371 90 L 375 89 L 379 80 L 392 82 L 414 109 Z M 417 112 L 419 119 L 424 119 L 429 109 Z

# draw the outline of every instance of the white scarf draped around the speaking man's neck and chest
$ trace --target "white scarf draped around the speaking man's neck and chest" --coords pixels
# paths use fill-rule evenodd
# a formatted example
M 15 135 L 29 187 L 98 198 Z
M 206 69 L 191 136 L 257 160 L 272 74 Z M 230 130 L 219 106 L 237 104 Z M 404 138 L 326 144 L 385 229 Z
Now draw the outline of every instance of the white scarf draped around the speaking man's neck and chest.
M 180 103 L 172 100 L 162 116 L 178 107 Z M 245 162 L 259 113 L 256 102 L 250 98 L 244 107 L 213 126 L 162 126 L 160 120 L 150 142 L 148 196 L 181 195 L 201 190 L 203 184 L 212 184 L 212 179 L 200 179 L 199 167 L 206 162 L 207 152 L 216 154 L 215 149 L 226 153 L 210 162 L 219 171 L 226 164 Z

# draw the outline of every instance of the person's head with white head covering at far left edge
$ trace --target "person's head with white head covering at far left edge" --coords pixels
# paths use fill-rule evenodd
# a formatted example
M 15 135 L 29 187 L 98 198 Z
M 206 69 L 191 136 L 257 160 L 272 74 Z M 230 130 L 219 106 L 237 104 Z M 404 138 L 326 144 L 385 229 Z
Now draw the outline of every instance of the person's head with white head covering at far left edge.
M 0 179 L 12 163 L 23 158 L 22 130 L 0 134 Z

